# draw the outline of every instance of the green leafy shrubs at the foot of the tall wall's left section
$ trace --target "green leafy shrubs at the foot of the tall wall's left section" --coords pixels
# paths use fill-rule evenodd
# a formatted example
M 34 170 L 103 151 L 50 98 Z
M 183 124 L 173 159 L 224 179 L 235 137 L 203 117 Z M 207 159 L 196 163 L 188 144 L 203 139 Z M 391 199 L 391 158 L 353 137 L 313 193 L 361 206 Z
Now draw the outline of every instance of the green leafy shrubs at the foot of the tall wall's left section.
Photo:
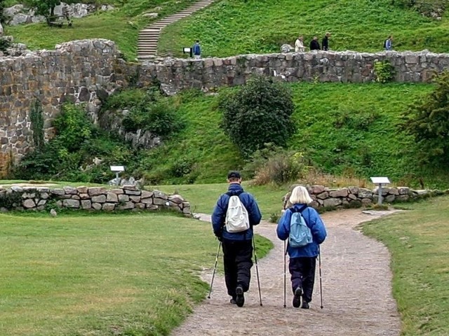
M 104 183 L 114 178 L 109 165 L 132 169 L 132 148 L 93 125 L 79 106 L 67 104 L 55 118 L 55 137 L 20 160 L 15 179 Z

